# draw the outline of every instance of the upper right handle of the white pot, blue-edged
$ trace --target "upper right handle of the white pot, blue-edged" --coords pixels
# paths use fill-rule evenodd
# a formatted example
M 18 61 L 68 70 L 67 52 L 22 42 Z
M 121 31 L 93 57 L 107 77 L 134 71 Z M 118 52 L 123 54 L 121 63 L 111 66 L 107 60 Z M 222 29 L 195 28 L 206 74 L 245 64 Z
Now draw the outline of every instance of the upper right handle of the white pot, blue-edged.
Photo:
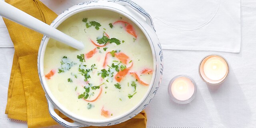
M 150 27 L 156 32 L 151 16 L 141 6 L 132 2 L 131 0 L 113 0 L 113 2 L 118 2 L 124 7 L 129 6 L 134 11 L 138 12 L 140 15 L 146 18 L 146 23 L 148 23 L 148 25 L 150 25 Z

